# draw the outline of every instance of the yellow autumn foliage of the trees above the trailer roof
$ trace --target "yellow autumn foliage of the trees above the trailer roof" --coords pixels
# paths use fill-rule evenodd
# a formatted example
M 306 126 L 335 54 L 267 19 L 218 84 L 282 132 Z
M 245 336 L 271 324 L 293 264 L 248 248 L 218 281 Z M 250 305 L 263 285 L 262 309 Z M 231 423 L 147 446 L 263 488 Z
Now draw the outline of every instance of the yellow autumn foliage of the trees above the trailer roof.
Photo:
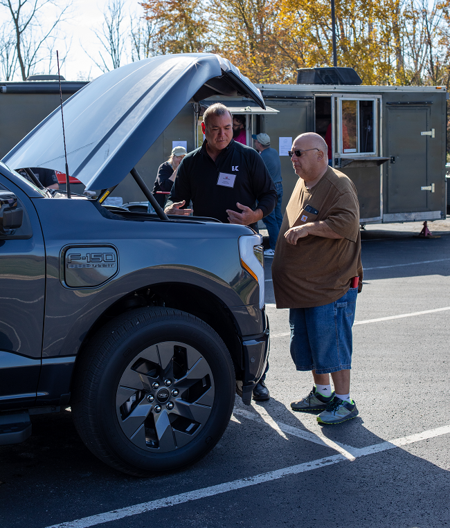
M 207 1 L 207 3 L 206 3 Z M 149 0 L 154 54 L 213 51 L 253 82 L 332 64 L 330 0 Z M 339 66 L 363 84 L 448 84 L 450 0 L 335 0 Z

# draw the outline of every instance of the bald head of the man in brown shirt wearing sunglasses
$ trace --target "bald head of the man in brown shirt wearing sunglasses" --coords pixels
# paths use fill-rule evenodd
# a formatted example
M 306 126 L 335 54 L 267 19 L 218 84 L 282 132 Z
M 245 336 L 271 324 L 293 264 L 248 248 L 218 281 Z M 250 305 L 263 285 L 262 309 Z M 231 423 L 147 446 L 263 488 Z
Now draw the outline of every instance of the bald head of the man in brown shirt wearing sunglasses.
M 295 152 L 291 161 L 297 176 L 305 181 L 309 188 L 318 183 L 328 168 L 328 148 L 322 136 L 314 132 L 300 134 L 292 143 L 293 151 L 301 151 L 300 156 Z

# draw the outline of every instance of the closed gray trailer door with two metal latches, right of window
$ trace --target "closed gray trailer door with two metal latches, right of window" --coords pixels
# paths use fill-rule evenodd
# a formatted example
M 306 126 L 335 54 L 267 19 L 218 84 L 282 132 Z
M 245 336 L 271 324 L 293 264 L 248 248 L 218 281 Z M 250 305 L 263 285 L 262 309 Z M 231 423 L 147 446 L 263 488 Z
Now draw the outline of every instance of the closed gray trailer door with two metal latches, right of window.
M 390 214 L 429 210 L 429 107 L 388 107 L 388 203 Z M 386 212 L 386 211 L 385 211 Z

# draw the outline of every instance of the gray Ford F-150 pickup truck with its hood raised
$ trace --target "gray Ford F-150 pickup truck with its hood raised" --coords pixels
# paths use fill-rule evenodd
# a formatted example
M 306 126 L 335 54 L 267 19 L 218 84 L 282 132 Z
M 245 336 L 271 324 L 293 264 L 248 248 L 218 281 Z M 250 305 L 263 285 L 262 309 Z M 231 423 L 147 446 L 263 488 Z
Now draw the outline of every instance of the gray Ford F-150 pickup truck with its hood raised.
M 269 350 L 260 235 L 102 205 L 128 173 L 152 201 L 134 165 L 187 102 L 215 94 L 264 107 L 239 70 L 208 53 L 135 62 L 67 100 L 69 172 L 96 199 L 14 170 L 66 172 L 60 110 L 3 158 L 0 445 L 27 439 L 30 415 L 70 406 L 92 453 L 147 475 L 208 453 L 236 390 L 250 403 Z

